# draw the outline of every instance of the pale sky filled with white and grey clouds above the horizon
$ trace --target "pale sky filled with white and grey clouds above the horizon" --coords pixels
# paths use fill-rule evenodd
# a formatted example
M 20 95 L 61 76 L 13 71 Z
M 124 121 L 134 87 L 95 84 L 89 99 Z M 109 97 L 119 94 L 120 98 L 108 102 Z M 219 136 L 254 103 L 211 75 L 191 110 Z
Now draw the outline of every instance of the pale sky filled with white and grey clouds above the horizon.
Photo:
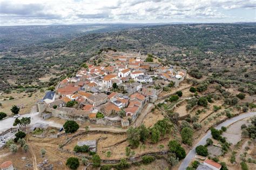
M 256 0 L 0 0 L 0 25 L 256 22 Z

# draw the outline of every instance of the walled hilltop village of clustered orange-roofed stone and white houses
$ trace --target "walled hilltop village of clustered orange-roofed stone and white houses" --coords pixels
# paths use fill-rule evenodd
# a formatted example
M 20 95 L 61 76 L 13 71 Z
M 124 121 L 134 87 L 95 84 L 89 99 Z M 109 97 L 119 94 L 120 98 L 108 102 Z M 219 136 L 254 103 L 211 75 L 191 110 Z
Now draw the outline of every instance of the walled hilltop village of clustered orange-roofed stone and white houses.
M 129 127 L 147 103 L 154 103 L 163 87 L 177 87 L 186 70 L 163 65 L 152 55 L 105 52 L 91 58 L 75 77 L 65 78 L 37 103 L 44 119 L 89 120 Z

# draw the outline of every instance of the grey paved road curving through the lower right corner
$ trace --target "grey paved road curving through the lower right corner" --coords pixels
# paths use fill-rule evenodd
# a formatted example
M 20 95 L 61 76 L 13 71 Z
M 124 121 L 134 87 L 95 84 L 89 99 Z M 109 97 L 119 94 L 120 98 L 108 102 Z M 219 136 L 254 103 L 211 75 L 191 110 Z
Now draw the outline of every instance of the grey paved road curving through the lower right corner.
M 256 115 L 256 112 L 250 112 L 250 113 L 243 113 L 238 115 L 237 117 L 228 119 L 226 121 L 224 121 L 224 123 L 219 124 L 217 127 L 218 130 L 220 130 L 221 126 L 229 126 L 233 123 L 235 123 L 238 120 L 244 119 L 244 118 L 248 118 L 248 117 L 252 117 Z M 181 163 L 181 165 L 179 166 L 179 170 L 184 170 L 187 168 L 187 166 L 190 164 L 190 161 L 196 156 L 196 147 L 199 145 L 205 145 L 206 144 L 206 139 L 207 138 L 211 138 L 211 132 L 208 131 L 205 136 L 190 150 L 190 152 L 188 152 L 188 154 L 186 155 L 186 158 L 183 160 L 183 162 Z

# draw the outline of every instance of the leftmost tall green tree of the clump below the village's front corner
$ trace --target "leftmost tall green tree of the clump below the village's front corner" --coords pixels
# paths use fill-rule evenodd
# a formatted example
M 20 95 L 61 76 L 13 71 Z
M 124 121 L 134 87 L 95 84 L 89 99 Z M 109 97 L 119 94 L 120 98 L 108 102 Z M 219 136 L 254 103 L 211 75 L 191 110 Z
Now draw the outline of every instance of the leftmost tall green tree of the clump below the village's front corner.
M 127 130 L 127 139 L 131 147 L 137 148 L 139 146 L 139 140 L 140 140 L 139 129 L 131 126 Z

